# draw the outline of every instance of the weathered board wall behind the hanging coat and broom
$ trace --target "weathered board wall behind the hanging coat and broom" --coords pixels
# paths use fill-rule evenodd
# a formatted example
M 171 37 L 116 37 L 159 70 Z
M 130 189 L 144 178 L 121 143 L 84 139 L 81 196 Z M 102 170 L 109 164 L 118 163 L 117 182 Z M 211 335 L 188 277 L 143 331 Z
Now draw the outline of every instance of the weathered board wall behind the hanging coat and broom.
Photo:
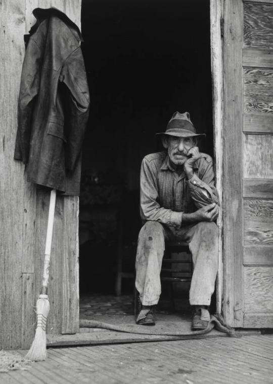
M 49 193 L 26 181 L 24 165 L 14 161 L 17 99 L 28 33 L 36 7 L 56 7 L 77 25 L 80 0 L 11 0 L 0 3 L 0 349 L 29 348 L 35 331 L 48 217 Z M 79 329 L 78 198 L 57 198 L 50 268 L 47 333 Z

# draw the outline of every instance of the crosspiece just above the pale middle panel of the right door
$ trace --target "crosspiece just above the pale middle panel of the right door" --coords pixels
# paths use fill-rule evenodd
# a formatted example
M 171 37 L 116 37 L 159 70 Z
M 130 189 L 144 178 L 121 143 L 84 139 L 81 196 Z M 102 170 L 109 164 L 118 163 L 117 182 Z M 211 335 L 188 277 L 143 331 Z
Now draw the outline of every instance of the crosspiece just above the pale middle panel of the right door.
M 245 133 L 273 133 L 273 115 L 244 113 L 243 131 Z

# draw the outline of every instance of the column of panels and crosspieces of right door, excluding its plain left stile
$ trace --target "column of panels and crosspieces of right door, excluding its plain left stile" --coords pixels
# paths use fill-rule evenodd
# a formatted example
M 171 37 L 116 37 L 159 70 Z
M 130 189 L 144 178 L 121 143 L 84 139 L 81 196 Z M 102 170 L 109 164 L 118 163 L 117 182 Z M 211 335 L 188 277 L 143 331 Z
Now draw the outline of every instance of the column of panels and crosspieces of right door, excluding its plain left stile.
M 245 327 L 273 324 L 273 4 L 265 3 L 244 3 L 244 183 L 256 184 L 244 200 Z

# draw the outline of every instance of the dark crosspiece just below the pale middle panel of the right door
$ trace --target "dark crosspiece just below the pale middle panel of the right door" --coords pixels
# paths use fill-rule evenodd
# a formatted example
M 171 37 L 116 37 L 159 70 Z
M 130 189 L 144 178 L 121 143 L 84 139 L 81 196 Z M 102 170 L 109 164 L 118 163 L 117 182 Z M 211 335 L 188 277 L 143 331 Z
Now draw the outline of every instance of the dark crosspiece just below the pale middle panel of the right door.
M 250 199 L 273 199 L 273 180 L 244 179 L 243 197 Z

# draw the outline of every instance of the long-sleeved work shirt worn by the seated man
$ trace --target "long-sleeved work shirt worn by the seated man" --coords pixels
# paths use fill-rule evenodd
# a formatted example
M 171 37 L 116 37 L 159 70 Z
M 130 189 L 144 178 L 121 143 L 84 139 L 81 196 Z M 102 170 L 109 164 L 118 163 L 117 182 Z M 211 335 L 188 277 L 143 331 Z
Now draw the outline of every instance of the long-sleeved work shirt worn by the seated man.
M 180 175 L 175 172 L 166 151 L 145 156 L 141 165 L 140 213 L 143 220 L 180 227 L 183 213 L 218 203 L 212 159 L 206 153 L 200 155 L 190 180 L 184 171 Z

